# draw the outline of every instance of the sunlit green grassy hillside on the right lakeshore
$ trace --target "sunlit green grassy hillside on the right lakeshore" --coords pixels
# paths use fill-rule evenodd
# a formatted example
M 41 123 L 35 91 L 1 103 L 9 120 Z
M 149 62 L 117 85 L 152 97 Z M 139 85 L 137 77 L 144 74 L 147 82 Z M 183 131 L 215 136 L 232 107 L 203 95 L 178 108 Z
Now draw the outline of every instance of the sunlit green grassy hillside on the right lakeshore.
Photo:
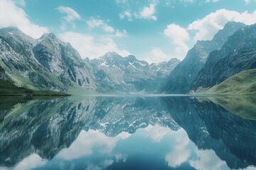
M 248 69 L 226 79 L 206 94 L 256 94 L 256 69 Z

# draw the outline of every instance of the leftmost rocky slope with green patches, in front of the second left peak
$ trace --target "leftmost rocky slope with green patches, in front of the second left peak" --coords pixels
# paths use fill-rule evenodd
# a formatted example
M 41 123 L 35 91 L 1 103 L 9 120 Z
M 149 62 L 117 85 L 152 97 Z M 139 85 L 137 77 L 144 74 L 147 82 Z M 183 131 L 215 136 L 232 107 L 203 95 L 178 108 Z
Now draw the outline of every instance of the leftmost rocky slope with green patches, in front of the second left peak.
M 29 47 L 24 47 L 25 42 L 13 38 L 18 31 L 17 28 L 11 31 L 9 30 L 6 35 L 0 35 L 0 65 L 5 69 L 6 79 L 13 81 L 17 86 L 25 86 L 29 89 L 68 91 L 68 88 L 48 69 L 38 64 L 33 55 L 32 46 L 29 46 L 31 44 L 28 43 Z M 9 39 L 13 42 L 9 42 Z M 23 49 L 20 51 L 21 48 Z

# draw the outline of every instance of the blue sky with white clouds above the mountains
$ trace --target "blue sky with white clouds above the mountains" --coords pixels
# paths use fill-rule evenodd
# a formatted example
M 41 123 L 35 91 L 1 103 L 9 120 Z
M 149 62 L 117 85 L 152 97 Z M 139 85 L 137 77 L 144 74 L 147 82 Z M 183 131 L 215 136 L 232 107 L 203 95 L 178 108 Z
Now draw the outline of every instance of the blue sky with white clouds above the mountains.
M 55 33 L 82 58 L 115 51 L 147 62 L 180 60 L 228 21 L 256 22 L 255 0 L 0 0 L 0 28 Z

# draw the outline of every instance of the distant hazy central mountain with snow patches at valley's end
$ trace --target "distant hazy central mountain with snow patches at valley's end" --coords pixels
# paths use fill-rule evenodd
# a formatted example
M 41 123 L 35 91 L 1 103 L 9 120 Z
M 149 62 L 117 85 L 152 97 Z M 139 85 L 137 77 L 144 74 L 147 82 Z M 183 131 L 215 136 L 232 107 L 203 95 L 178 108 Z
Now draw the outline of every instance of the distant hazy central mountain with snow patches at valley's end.
M 99 59 L 90 60 L 92 67 L 97 68 L 95 77 L 101 82 L 100 86 L 127 92 L 156 92 L 179 62 L 171 59 L 169 62 L 148 64 L 133 55 L 121 57 L 116 52 L 107 52 Z

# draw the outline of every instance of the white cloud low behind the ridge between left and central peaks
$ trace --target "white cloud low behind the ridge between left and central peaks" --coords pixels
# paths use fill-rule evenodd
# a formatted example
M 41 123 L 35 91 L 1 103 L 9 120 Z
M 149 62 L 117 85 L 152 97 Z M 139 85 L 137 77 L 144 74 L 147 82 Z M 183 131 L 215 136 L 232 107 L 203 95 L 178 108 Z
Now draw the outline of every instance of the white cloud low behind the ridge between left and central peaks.
M 82 58 L 89 57 L 93 59 L 105 55 L 106 52 L 113 51 L 123 57 L 130 54 L 125 50 L 120 50 L 114 40 L 107 35 L 95 38 L 92 35 L 66 32 L 60 34 L 60 38 L 65 42 L 70 42 L 78 50 Z

